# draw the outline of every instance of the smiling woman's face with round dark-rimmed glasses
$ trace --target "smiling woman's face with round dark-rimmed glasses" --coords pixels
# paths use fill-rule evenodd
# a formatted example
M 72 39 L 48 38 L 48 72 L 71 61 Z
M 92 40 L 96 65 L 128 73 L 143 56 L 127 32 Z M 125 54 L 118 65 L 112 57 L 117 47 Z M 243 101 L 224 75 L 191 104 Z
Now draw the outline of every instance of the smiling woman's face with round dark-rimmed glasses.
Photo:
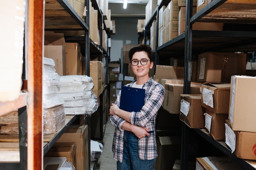
M 138 65 L 134 66 L 136 64 Z M 143 64 L 146 64 L 146 65 L 143 65 Z M 136 75 L 137 78 L 144 77 L 144 76 L 148 76 L 149 70 L 153 68 L 153 62 L 150 62 L 149 57 L 145 51 L 139 51 L 134 53 L 134 55 L 132 56 L 131 67 L 132 67 L 133 73 Z

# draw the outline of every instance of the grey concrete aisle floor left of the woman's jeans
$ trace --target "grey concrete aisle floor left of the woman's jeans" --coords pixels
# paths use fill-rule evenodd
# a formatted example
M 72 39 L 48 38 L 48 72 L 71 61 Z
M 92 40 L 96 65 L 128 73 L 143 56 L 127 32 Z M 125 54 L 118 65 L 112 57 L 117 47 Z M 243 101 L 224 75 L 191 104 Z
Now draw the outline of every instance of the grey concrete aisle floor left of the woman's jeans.
M 103 151 L 98 159 L 97 170 L 116 170 L 117 162 L 113 159 L 112 141 L 115 127 L 108 119 L 103 137 Z

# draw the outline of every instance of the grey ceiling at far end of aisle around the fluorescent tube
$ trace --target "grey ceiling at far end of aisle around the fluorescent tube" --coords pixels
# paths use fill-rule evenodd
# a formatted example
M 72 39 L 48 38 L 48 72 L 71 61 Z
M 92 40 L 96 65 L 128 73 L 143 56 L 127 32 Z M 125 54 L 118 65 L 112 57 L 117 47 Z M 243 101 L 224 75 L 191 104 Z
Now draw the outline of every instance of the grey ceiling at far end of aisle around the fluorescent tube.
M 128 0 L 127 8 L 123 8 L 124 0 L 108 0 L 111 17 L 145 17 L 148 0 Z

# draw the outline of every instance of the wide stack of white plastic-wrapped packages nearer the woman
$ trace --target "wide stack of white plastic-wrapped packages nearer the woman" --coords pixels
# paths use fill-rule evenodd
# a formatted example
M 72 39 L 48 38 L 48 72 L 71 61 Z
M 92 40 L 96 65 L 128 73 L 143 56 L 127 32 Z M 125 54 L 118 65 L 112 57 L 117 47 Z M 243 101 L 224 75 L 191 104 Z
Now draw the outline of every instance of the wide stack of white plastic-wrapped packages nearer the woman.
M 58 96 L 64 101 L 66 115 L 91 115 L 98 109 L 98 100 L 93 92 L 92 77 L 87 75 L 64 75 Z

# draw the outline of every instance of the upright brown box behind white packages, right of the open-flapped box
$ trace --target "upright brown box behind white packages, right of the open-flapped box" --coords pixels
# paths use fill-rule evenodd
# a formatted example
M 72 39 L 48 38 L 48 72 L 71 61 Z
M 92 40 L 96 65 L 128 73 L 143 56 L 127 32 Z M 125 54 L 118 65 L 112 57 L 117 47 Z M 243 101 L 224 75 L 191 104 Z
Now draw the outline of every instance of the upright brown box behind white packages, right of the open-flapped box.
M 82 75 L 82 57 L 80 44 L 66 43 L 66 75 Z

